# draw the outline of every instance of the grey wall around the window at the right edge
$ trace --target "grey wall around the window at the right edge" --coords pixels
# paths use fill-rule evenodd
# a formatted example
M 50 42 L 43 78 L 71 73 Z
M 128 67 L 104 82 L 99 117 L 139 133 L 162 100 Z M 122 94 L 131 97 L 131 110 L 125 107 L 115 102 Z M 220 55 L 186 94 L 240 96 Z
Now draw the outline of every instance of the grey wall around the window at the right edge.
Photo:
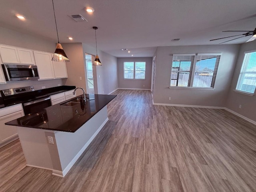
M 248 96 L 233 91 L 236 89 L 242 62 L 244 60 L 244 52 L 250 50 L 256 50 L 256 41 L 244 43 L 241 46 L 225 106 L 234 112 L 237 112 L 253 121 L 256 121 L 256 96 Z M 242 105 L 241 109 L 239 108 L 239 105 Z

